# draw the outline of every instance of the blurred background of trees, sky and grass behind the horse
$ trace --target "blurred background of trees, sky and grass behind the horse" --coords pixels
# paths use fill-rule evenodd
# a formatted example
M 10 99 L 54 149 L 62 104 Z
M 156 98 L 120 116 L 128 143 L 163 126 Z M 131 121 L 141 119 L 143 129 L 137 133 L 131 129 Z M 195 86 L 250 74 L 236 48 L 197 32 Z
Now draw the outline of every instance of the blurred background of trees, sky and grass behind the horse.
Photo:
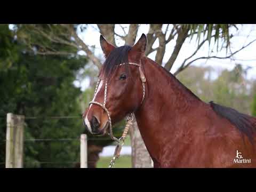
M 147 57 L 203 101 L 256 116 L 256 25 L 2 24 L 0 167 L 5 167 L 7 113 L 25 116 L 23 167 L 79 167 L 82 133 L 88 167 L 108 167 L 115 143 L 93 137 L 82 125 L 105 60 L 100 34 L 122 46 L 133 45 L 142 33 Z M 124 125 L 115 125 L 116 137 Z M 134 122 L 115 167 L 152 166 Z

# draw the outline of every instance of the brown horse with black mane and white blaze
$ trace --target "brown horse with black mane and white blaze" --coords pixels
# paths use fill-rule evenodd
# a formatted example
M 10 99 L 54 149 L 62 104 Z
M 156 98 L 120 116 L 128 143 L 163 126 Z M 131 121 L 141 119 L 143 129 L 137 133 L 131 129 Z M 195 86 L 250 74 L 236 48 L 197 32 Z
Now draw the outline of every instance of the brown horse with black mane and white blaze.
M 144 34 L 134 46 L 100 43 L 106 61 L 83 114 L 90 132 L 134 113 L 154 167 L 256 167 L 256 118 L 200 100 L 145 56 Z

